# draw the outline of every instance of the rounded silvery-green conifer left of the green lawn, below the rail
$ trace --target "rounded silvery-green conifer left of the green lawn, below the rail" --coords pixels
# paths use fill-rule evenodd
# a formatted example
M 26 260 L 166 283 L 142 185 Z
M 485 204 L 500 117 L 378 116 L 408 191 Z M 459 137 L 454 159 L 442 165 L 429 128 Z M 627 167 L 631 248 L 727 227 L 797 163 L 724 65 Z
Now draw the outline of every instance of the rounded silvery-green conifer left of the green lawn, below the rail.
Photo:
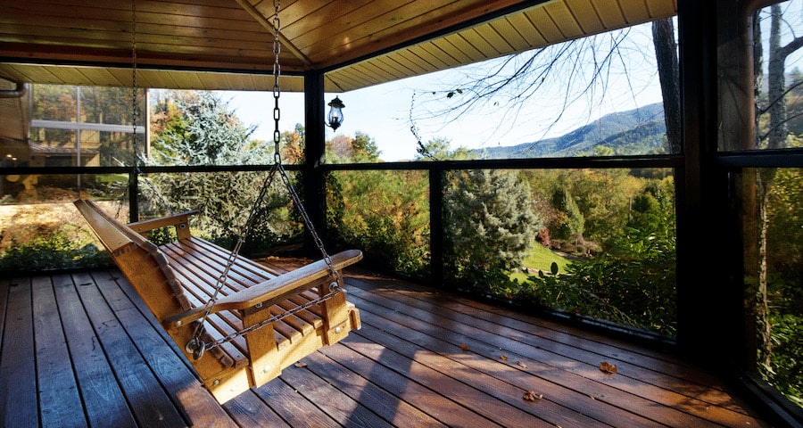
M 504 283 L 542 227 L 530 194 L 515 171 L 472 169 L 451 175 L 443 195 L 449 278 L 475 288 Z

